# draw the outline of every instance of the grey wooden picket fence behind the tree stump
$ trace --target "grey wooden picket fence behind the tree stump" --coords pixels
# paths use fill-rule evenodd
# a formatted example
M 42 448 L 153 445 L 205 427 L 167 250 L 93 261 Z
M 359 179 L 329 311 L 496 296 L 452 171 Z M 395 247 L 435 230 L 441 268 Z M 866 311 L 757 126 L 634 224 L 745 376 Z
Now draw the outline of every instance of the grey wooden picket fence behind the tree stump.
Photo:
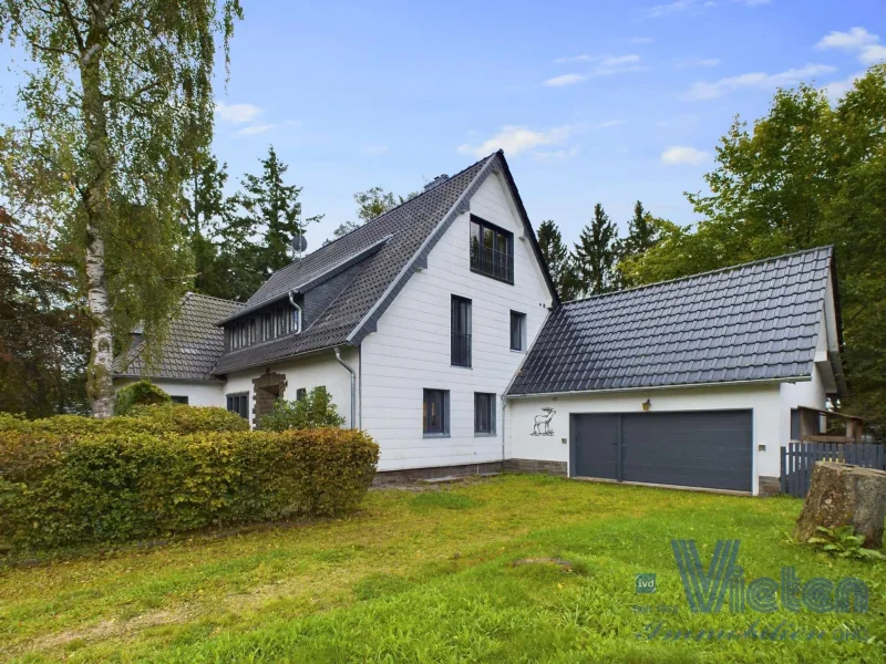
M 782 494 L 805 498 L 815 461 L 839 461 L 886 470 L 886 445 L 789 443 L 787 447 L 782 447 Z

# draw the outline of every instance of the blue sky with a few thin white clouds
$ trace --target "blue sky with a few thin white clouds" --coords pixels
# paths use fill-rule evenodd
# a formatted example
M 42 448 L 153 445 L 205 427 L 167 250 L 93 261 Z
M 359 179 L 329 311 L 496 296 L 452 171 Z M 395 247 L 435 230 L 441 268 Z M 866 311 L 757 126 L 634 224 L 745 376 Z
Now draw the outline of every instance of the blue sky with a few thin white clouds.
M 568 241 L 597 201 L 621 228 L 638 198 L 690 222 L 682 193 L 733 115 L 800 80 L 838 94 L 886 58 L 882 0 L 244 4 L 215 149 L 236 181 L 274 144 L 305 215 L 326 214 L 311 248 L 354 191 L 416 190 L 497 147 Z

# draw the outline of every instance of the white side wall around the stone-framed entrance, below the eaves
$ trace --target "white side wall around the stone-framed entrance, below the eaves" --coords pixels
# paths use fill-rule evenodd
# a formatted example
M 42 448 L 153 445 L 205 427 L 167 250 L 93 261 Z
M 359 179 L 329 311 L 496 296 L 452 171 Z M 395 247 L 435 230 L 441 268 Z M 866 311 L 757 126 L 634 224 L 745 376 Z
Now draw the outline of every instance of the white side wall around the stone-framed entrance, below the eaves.
M 359 378 L 360 362 L 358 353 L 359 351 L 353 347 L 341 349 L 341 359 L 354 370 Z M 270 371 L 270 373 L 281 373 L 286 375 L 287 385 L 282 396 L 288 401 L 295 401 L 296 392 L 300 387 L 305 387 L 310 392 L 320 385 L 326 386 L 327 391 L 329 391 L 332 396 L 332 403 L 338 406 L 339 415 L 342 415 L 346 419 L 343 426 L 349 427 L 351 425 L 351 375 L 338 363 L 331 350 L 322 351 L 316 355 L 287 360 L 267 366 L 247 369 L 229 374 L 224 387 L 224 394 L 248 392 L 250 418 L 253 407 L 255 406 L 255 400 L 253 398 L 253 380 L 265 375 L 268 371 Z M 360 401 L 358 398 L 358 422 L 360 419 L 359 407 Z M 250 422 L 250 424 L 255 426 L 254 422 Z

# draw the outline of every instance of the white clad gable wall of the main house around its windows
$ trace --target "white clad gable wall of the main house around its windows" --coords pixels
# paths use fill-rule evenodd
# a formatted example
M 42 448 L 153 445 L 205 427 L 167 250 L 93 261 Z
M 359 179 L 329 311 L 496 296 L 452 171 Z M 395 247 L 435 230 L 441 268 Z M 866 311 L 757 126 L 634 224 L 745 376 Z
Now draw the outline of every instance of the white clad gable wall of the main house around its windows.
M 471 211 L 514 234 L 514 286 L 471 271 L 470 215 L 460 215 L 367 336 L 362 425 L 381 446 L 379 470 L 502 460 L 501 396 L 525 352 L 511 351 L 511 311 L 526 314 L 528 342 L 552 304 L 523 224 L 498 175 L 486 178 Z M 450 364 L 451 297 L 472 300 L 472 369 Z M 424 388 L 450 391 L 449 437 L 424 437 Z M 474 435 L 474 393 L 498 397 L 496 434 Z

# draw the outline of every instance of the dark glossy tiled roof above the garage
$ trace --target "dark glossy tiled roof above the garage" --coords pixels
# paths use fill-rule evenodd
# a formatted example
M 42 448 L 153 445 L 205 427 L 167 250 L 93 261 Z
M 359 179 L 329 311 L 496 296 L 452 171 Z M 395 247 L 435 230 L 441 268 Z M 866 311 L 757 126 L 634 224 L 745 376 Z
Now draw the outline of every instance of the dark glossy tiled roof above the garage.
M 808 376 L 831 262 L 823 247 L 563 304 L 508 394 Z

